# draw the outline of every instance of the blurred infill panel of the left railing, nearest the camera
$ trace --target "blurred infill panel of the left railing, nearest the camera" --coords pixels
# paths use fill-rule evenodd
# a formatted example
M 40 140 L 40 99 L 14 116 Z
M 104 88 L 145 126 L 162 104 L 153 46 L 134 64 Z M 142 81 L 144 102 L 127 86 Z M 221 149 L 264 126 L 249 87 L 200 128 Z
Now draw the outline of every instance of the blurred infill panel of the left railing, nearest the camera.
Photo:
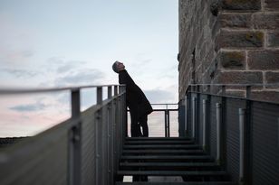
M 67 143 L 67 130 L 52 129 L 14 144 L 2 153 L 0 184 L 67 184 Z

